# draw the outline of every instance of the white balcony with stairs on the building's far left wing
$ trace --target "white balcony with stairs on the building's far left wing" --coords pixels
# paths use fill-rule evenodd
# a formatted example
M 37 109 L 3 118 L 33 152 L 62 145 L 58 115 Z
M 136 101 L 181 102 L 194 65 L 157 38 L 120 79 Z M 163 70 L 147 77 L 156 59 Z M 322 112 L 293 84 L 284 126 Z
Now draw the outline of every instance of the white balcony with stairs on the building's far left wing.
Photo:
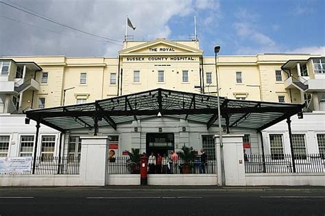
M 33 78 L 25 80 L 25 82 L 23 79 L 19 80 L 18 82 L 0 82 L 0 93 L 2 94 L 17 94 L 27 90 L 38 91 L 39 89 L 40 84 Z

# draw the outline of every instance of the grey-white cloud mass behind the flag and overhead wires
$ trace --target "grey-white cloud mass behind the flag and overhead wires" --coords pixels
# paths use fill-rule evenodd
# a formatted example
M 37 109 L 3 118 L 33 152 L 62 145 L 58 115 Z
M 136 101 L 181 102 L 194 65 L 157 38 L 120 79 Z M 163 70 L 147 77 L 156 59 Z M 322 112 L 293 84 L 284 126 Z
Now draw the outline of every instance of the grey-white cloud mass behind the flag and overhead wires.
M 133 34 L 134 40 L 152 40 L 168 38 L 171 34 L 169 21 L 187 16 L 195 11 L 195 5 L 191 0 L 83 0 L 64 1 L 64 3 L 59 3 L 58 0 L 11 0 L 10 2 L 18 3 L 85 32 L 121 41 L 124 39 L 125 16 L 127 14 L 136 27 L 135 31 L 129 28 L 128 34 Z M 117 56 L 117 51 L 122 48 L 122 43 L 113 42 L 120 45 L 112 45 L 106 43 L 105 39 L 60 27 L 14 10 L 14 8 L 1 5 L 2 8 L 5 8 L 5 10 L 1 10 L 3 16 L 51 29 L 58 33 L 27 27 L 0 17 L 0 25 L 6 29 L 0 33 L 0 55 Z M 200 5 L 200 8 L 206 8 L 206 6 Z

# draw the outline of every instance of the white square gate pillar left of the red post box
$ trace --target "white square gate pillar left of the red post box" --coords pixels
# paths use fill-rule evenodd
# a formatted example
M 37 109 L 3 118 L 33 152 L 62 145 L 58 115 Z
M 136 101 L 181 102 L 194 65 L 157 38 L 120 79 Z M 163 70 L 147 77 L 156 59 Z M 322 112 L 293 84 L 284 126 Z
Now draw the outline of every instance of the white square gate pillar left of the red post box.
M 104 186 L 108 165 L 108 136 L 81 136 L 80 184 Z

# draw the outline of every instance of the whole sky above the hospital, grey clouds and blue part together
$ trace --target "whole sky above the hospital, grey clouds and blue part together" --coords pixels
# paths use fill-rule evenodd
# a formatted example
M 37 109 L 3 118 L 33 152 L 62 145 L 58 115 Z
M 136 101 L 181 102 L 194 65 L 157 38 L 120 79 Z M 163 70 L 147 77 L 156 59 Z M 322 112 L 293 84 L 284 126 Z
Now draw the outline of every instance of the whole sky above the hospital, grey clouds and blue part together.
M 204 56 L 258 53 L 325 55 L 325 0 L 1 0 L 106 40 L 0 4 L 0 56 L 108 56 L 122 49 L 125 17 L 134 40 L 188 40 Z M 64 3 L 63 3 L 64 2 Z M 107 42 L 109 41 L 109 43 Z

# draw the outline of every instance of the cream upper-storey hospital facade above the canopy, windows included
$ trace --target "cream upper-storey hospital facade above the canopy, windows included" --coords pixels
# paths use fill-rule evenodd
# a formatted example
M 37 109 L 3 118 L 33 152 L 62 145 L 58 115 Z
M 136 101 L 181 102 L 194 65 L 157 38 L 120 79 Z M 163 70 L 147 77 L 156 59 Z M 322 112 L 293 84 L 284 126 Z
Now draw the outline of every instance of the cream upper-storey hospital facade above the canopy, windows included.
M 203 56 L 197 41 L 165 39 L 150 42 L 129 41 L 124 44 L 124 48 L 119 51 L 118 58 L 5 57 L 14 60 L 10 61 L 9 80 L 17 80 L 15 79 L 17 64 L 24 65 L 23 62 L 29 62 L 28 64 L 34 64 L 34 67 L 38 66 L 41 69 L 27 67 L 23 80 L 18 81 L 23 83 L 33 79 L 39 85 L 25 89 L 23 95 L 21 92 L 9 93 L 1 89 L 0 93 L 6 93 L 11 97 L 15 94 L 22 95 L 20 111 L 27 108 L 42 108 L 44 99 L 45 108 L 49 108 L 62 106 L 63 100 L 64 105 L 69 105 L 154 88 L 213 95 L 217 91 L 215 57 Z M 309 88 L 308 91 L 302 91 L 294 81 L 300 79 L 303 83 L 302 79 L 309 78 L 309 82 L 316 80 L 317 86 L 325 84 L 324 72 L 315 73 L 313 67 L 313 59 L 321 58 L 322 56 L 307 54 L 219 56 L 217 70 L 220 95 L 232 99 L 257 101 L 279 101 L 280 99 L 286 103 L 300 104 L 304 102 L 304 93 L 311 93 L 309 102 L 312 110 L 320 110 L 322 108 L 320 103 L 323 98 L 325 99 L 322 94 L 324 89 Z M 304 64 L 308 71 L 307 77 L 298 74 L 297 68 Z M 282 66 L 285 68 L 281 69 Z M 293 77 L 289 76 L 290 73 Z M 65 99 L 63 99 L 64 89 L 68 89 L 65 91 Z M 317 91 L 317 94 L 314 91 Z M 43 101 L 40 101 L 40 98 Z M 3 104 L 4 102 L 5 99 Z M 14 112 L 12 108 L 10 111 Z

